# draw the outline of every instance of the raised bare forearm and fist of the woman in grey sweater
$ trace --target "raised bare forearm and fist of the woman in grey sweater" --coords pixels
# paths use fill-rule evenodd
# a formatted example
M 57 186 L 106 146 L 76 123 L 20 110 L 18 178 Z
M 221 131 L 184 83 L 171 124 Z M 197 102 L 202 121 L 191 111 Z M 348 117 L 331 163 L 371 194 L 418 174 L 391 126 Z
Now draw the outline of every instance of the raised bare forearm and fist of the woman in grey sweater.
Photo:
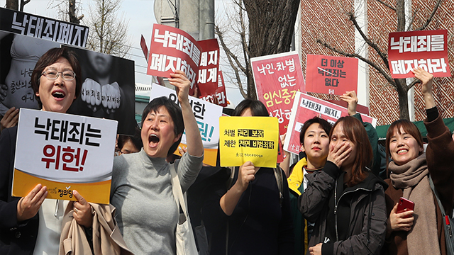
M 170 84 L 175 86 L 177 91 L 178 101 L 182 107 L 184 129 L 186 132 L 187 152 L 191 156 L 201 157 L 204 154 L 204 145 L 201 142 L 200 130 L 197 125 L 196 118 L 189 104 L 189 86 L 191 82 L 187 79 L 184 72 L 176 70 L 174 74 L 170 74 Z

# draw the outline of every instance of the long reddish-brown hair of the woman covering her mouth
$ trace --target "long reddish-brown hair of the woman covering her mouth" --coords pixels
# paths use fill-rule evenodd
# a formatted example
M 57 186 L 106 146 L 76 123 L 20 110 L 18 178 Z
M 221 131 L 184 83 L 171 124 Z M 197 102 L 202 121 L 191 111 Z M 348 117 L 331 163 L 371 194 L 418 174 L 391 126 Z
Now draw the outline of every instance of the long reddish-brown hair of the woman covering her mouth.
M 353 187 L 367 177 L 365 167 L 370 169 L 374 155 L 367 132 L 357 118 L 351 116 L 339 118 L 333 125 L 333 128 L 331 128 L 331 132 L 329 133 L 330 140 L 333 130 L 340 124 L 342 125 L 345 137 L 356 146 L 356 154 L 350 155 L 350 157 L 355 157 L 355 162 L 353 163 L 350 180 L 347 181 L 347 186 Z

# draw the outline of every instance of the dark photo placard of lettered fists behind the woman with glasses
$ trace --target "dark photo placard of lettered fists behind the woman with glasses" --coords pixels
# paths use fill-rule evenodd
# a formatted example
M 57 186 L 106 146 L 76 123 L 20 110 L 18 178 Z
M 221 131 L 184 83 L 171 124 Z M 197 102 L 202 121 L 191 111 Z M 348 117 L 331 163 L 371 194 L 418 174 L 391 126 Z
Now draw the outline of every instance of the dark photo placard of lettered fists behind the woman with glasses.
M 118 120 L 118 134 L 133 135 L 134 62 L 73 47 L 82 67 L 82 90 L 68 113 Z

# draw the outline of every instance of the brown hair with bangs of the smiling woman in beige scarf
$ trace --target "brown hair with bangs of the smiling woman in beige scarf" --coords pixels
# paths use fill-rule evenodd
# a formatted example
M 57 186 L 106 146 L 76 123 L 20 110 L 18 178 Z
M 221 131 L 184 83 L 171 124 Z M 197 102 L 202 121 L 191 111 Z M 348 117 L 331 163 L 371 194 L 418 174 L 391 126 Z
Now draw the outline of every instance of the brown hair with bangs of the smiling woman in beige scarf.
M 423 137 L 421 132 L 419 132 L 418 127 L 414 125 L 410 120 L 396 120 L 391 125 L 389 125 L 388 131 L 386 132 L 386 169 L 388 171 L 388 164 L 389 158 L 391 157 L 391 153 L 389 152 L 389 143 L 391 142 L 391 137 L 394 136 L 394 130 L 400 134 L 401 129 L 404 130 L 407 134 L 414 137 L 418 145 L 423 148 Z M 419 152 L 419 155 L 423 154 L 422 151 Z

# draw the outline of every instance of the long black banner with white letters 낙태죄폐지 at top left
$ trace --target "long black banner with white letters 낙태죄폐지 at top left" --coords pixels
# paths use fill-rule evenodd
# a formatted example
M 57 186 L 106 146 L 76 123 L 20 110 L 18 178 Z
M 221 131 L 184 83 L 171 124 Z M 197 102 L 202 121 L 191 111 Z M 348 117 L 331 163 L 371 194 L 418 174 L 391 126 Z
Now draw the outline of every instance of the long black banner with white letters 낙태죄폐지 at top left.
M 0 30 L 85 47 L 89 28 L 35 14 L 0 8 Z

